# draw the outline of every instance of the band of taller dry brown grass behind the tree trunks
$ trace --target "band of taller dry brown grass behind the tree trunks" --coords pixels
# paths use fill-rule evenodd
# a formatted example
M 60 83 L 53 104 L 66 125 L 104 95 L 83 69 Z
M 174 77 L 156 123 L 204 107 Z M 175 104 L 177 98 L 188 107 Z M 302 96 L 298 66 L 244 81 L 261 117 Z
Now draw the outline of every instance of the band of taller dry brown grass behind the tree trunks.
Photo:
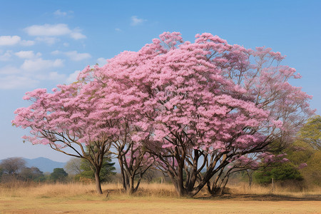
M 282 187 L 275 185 L 272 192 L 270 186 L 253 185 L 248 188 L 246 183 L 238 185 L 229 185 L 229 192 L 232 195 L 279 195 L 288 197 L 304 198 L 310 196 L 321 197 L 321 187 L 315 186 L 297 190 L 296 187 Z M 121 183 L 105 183 L 102 185 L 103 193 L 106 195 L 123 195 L 128 197 L 123 192 Z M 96 195 L 95 185 L 93 183 L 26 183 L 21 181 L 13 181 L 11 183 L 0 184 L 0 195 L 6 197 L 36 197 L 36 198 L 52 198 L 52 197 L 78 197 L 83 195 L 88 198 Z M 196 195 L 196 198 L 209 197 L 206 188 Z M 138 191 L 131 197 L 177 197 L 175 188 L 170 183 L 141 183 Z

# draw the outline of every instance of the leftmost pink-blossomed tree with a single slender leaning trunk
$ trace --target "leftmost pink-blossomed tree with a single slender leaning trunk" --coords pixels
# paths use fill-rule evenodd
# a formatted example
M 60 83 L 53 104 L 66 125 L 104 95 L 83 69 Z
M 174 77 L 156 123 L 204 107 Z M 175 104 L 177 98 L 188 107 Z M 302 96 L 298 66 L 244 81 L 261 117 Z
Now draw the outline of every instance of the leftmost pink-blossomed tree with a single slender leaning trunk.
M 88 160 L 95 171 L 97 193 L 102 193 L 99 172 L 117 133 L 114 127 L 117 118 L 103 117 L 106 108 L 101 108 L 99 97 L 93 96 L 91 85 L 78 81 L 58 86 L 54 93 L 47 93 L 46 89 L 27 92 L 24 99 L 32 104 L 16 109 L 12 123 L 31 128 L 31 136 L 23 137 L 26 141 Z

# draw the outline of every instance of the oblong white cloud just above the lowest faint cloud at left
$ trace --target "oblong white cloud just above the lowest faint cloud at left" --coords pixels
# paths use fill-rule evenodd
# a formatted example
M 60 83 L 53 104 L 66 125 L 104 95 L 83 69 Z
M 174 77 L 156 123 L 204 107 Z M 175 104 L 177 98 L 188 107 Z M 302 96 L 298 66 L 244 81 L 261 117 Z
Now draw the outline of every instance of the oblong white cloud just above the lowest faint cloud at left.
M 47 71 L 50 68 L 56 68 L 61 66 L 63 66 L 63 61 L 60 58 L 56 60 L 45 60 L 42 58 L 36 58 L 26 59 L 24 63 L 21 65 L 21 69 L 24 69 L 25 71 Z

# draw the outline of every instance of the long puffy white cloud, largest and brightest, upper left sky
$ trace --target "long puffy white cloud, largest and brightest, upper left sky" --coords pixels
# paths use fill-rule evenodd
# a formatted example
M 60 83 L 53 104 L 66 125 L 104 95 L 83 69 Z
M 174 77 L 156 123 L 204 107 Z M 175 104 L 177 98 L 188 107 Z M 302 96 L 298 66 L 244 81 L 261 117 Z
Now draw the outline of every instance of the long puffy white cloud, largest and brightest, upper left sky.
M 71 36 L 72 39 L 85 39 L 86 36 L 81 34 L 80 29 L 69 29 L 66 24 L 44 24 L 33 25 L 24 29 L 29 36 Z

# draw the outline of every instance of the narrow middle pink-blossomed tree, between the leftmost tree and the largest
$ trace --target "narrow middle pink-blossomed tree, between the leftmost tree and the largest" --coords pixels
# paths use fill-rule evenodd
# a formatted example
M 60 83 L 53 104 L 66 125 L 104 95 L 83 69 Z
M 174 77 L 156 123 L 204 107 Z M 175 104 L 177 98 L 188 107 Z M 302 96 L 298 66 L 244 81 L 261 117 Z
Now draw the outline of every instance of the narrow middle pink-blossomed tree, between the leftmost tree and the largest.
M 136 126 L 141 120 L 136 110 L 140 109 L 141 103 L 138 103 L 136 95 L 130 95 L 128 92 L 131 91 L 131 88 L 128 89 L 129 83 L 126 83 L 125 87 L 120 87 L 121 84 L 114 79 L 117 73 L 110 76 L 109 69 L 111 68 L 108 68 L 108 65 L 102 68 L 96 66 L 82 71 L 79 78 L 91 84 L 90 88 L 86 88 L 86 93 L 95 96 L 95 102 L 100 103 L 104 109 L 103 111 L 96 109 L 98 117 L 113 121 L 115 132 L 111 143 L 114 148 L 112 153 L 118 158 L 121 167 L 123 189 L 131 194 L 136 192 L 143 174 L 153 165 L 155 158 L 143 148 L 142 141 L 132 139 L 133 134 L 140 129 Z M 108 71 L 108 75 L 105 71 Z

